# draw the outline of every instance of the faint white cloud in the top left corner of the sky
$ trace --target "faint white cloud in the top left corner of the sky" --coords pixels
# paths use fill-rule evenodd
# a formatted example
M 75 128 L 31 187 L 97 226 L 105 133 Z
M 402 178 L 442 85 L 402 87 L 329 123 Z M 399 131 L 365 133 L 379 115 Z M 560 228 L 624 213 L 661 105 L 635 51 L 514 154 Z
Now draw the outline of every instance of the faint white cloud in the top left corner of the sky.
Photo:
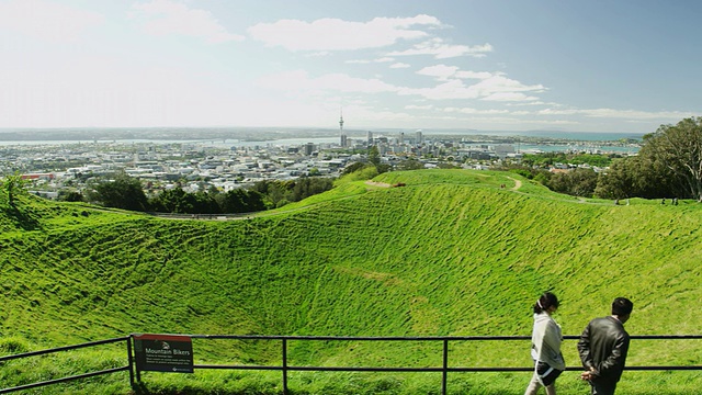
M 44 41 L 75 41 L 87 29 L 103 22 L 102 14 L 56 2 L 42 0 L 0 2 L 0 29 L 9 29 Z

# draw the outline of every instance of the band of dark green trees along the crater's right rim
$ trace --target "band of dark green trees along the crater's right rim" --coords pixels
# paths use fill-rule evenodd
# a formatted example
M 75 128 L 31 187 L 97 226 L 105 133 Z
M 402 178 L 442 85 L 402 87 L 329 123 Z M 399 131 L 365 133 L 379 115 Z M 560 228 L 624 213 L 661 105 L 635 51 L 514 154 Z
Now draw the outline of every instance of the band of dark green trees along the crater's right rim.
M 576 168 L 550 172 L 555 162 L 609 167 L 601 172 Z M 524 156 L 510 171 L 534 179 L 548 189 L 574 196 L 601 199 L 694 199 L 702 202 L 702 117 L 690 117 L 676 125 L 661 125 L 644 135 L 638 155 L 621 157 L 545 154 Z

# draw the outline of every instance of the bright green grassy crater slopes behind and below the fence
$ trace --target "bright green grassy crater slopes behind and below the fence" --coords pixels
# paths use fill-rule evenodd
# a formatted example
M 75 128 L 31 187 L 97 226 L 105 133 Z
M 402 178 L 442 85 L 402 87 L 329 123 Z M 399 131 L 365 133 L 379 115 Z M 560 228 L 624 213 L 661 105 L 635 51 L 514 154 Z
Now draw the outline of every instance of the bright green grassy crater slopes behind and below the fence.
M 165 219 L 0 198 L 0 352 L 129 332 L 530 335 L 541 292 L 564 334 L 634 302 L 632 335 L 702 331 L 702 205 L 580 201 L 516 174 L 392 172 L 251 218 Z M 388 188 L 404 183 L 405 187 Z M 279 364 L 280 343 L 195 341 L 196 363 Z M 453 366 L 528 366 L 528 342 L 456 342 Z M 440 366 L 440 343 L 295 342 L 290 364 Z M 578 365 L 575 342 L 564 343 Z M 125 363 L 122 347 L 8 362 L 0 383 Z M 634 340 L 630 365 L 702 364 L 699 341 Z M 559 393 L 587 393 L 576 372 Z M 291 374 L 295 394 L 439 393 L 440 375 Z M 144 373 L 150 393 L 276 394 L 280 373 Z M 521 394 L 528 373 L 455 373 L 452 394 Z M 624 394 L 694 394 L 699 372 L 626 372 Z M 37 393 L 129 392 L 126 374 Z M 180 391 L 180 392 L 179 392 Z

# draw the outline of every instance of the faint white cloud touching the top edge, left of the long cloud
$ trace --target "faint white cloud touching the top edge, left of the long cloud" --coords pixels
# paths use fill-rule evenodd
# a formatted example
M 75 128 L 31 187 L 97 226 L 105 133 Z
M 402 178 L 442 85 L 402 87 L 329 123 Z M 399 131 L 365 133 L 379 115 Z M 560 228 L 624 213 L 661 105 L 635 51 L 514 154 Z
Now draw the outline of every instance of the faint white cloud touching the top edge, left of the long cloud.
M 155 35 L 181 34 L 203 38 L 208 43 L 242 41 L 229 33 L 210 11 L 191 9 L 170 0 L 154 0 L 133 5 L 134 16 L 144 19 L 144 29 Z

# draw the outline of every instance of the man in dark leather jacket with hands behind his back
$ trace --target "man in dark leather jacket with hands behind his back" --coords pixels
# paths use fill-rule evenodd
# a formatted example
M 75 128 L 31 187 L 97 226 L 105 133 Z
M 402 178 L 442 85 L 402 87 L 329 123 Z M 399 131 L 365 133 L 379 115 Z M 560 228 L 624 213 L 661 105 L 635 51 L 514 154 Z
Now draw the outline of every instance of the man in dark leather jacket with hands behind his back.
M 624 323 L 633 309 L 630 300 L 618 297 L 612 303 L 612 315 L 592 319 L 580 335 L 578 352 L 586 369 L 580 379 L 590 382 L 592 395 L 614 394 L 629 351 Z

